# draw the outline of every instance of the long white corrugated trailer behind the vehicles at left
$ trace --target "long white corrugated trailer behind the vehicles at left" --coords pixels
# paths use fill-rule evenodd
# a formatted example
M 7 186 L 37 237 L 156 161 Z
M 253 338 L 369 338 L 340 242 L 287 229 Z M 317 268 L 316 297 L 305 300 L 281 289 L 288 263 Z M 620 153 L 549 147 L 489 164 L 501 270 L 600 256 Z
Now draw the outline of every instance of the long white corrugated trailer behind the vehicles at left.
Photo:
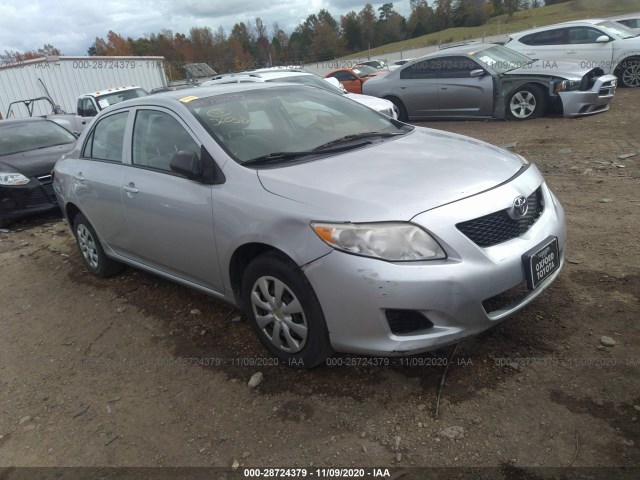
M 0 66 L 0 113 L 11 102 L 49 97 L 68 113 L 76 112 L 81 95 L 114 87 L 136 85 L 151 91 L 167 86 L 164 57 L 66 57 L 50 56 Z M 36 102 L 33 115 L 51 108 Z M 28 117 L 24 105 L 12 107 L 15 117 Z

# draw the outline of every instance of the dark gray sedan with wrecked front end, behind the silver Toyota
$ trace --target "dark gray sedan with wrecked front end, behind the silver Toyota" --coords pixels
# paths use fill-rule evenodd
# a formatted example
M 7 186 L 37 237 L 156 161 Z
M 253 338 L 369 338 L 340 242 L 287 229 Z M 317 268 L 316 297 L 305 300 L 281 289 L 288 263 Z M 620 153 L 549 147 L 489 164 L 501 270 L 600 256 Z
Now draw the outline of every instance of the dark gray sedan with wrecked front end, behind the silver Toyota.
M 501 45 L 443 48 L 363 85 L 363 93 L 396 104 L 399 118 L 528 120 L 548 109 L 565 117 L 604 112 L 617 79 L 600 68 L 538 61 Z

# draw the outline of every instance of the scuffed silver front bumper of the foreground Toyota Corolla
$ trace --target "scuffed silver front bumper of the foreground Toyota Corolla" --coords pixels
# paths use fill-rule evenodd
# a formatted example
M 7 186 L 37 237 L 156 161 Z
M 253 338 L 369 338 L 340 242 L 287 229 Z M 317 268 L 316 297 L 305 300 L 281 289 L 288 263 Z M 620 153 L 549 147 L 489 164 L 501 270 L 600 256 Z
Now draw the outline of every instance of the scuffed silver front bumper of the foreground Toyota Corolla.
M 391 263 L 334 251 L 307 265 L 333 348 L 368 355 L 434 350 L 490 328 L 540 295 L 558 276 L 566 244 L 564 211 L 542 182 L 531 166 L 506 185 L 413 218 L 440 242 L 446 260 Z M 515 197 L 541 185 L 544 211 L 523 235 L 482 248 L 457 229 L 460 222 L 508 208 Z M 522 254 L 549 236 L 558 239 L 560 268 L 535 290 L 487 311 L 488 299 L 525 282 Z M 433 326 L 393 333 L 388 310 L 418 311 Z

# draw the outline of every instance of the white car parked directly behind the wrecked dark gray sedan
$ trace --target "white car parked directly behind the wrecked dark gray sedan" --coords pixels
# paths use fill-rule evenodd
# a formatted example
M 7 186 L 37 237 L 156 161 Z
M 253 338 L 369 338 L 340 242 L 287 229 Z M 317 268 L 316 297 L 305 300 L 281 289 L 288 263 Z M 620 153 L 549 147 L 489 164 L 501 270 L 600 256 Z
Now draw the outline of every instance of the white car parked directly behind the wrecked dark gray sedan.
M 579 20 L 525 30 L 505 43 L 541 60 L 573 60 L 612 73 L 625 87 L 640 87 L 640 37 L 612 20 Z

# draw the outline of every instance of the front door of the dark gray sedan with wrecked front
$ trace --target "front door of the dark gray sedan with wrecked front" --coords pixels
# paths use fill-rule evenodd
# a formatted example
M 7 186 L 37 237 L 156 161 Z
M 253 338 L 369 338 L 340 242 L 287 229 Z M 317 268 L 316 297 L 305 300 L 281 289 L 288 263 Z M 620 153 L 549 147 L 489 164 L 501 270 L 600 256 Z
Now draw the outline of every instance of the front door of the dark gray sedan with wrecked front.
M 473 70 L 484 68 L 463 56 L 442 57 L 439 67 L 438 104 L 442 116 L 491 116 L 493 79 L 488 73 L 471 76 Z

